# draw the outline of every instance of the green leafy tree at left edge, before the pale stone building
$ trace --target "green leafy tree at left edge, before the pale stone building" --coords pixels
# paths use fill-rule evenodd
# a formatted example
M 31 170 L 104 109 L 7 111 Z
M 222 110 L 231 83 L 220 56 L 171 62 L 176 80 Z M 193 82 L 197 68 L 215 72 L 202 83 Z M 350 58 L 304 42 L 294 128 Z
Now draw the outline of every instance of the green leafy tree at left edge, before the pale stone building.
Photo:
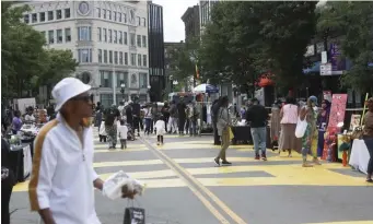
M 77 66 L 71 51 L 44 49 L 45 37 L 22 22 L 27 10 L 27 5 L 1 2 L 3 97 L 28 96 L 38 85 L 55 83 Z

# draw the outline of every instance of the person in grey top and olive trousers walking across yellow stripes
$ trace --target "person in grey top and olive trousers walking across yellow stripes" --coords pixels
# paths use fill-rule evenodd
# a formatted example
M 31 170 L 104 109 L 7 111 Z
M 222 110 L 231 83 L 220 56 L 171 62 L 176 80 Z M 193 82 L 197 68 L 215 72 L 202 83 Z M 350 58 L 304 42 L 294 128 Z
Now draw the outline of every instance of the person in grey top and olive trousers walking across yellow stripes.
M 232 163 L 226 161 L 226 150 L 230 146 L 230 128 L 231 128 L 231 116 L 228 110 L 229 98 L 224 96 L 221 98 L 220 108 L 218 110 L 217 117 L 217 128 L 218 134 L 221 138 L 221 150 L 215 158 L 213 158 L 214 163 L 220 166 L 220 160 L 223 165 L 231 165 Z

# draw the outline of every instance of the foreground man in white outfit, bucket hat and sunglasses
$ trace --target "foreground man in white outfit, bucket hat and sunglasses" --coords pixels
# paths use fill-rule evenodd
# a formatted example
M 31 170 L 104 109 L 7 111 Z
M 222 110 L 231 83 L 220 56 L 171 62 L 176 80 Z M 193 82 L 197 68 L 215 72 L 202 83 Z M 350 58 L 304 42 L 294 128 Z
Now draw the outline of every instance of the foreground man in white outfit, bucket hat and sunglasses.
M 93 169 L 90 89 L 75 78 L 61 80 L 53 90 L 57 118 L 42 128 L 34 142 L 28 196 L 31 209 L 45 224 L 101 223 L 94 188 L 102 190 L 104 181 Z M 133 194 L 124 192 L 124 197 Z

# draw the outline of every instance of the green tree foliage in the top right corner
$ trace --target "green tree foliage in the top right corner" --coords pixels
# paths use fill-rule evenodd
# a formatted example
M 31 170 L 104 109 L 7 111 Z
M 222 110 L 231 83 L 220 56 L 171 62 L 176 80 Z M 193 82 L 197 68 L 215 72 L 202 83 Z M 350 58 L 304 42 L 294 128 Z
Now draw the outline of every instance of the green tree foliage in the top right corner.
M 326 2 L 319 9 L 317 31 L 343 34 L 338 42 L 352 68 L 341 75 L 341 85 L 373 93 L 373 5 L 371 2 Z

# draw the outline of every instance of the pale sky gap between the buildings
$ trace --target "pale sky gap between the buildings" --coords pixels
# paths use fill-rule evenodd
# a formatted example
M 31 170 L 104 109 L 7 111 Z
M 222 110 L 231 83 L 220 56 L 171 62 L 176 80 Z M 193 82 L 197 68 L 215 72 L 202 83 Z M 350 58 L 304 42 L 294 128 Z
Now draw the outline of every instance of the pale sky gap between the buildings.
M 185 39 L 185 27 L 182 15 L 188 9 L 199 3 L 198 0 L 153 0 L 163 7 L 164 42 L 180 42 Z

